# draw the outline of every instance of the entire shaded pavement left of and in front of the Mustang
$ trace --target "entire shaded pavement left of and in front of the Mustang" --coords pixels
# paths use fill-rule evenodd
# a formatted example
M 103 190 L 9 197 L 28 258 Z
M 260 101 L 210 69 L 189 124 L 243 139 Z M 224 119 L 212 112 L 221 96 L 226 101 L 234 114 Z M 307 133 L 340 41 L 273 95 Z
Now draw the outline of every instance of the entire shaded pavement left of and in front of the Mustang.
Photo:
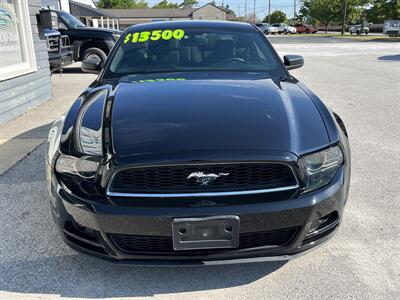
M 0 291 L 61 297 L 135 297 L 252 283 L 286 262 L 205 267 L 115 265 L 66 246 L 53 223 L 42 144 L 0 177 Z

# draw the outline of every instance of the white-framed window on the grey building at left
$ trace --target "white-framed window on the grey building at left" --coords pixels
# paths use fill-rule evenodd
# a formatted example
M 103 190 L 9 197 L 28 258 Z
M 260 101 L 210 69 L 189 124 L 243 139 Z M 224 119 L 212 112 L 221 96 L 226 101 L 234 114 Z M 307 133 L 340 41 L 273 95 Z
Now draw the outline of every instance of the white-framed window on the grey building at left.
M 0 81 L 36 70 L 27 0 L 0 0 Z

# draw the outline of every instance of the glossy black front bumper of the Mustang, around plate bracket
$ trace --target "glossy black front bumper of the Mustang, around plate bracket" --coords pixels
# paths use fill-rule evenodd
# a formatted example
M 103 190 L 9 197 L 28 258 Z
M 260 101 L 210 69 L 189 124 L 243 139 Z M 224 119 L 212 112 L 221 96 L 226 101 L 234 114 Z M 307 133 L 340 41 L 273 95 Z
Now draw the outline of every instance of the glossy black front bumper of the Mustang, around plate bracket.
M 117 263 L 136 265 L 209 265 L 296 258 L 335 234 L 348 194 L 344 168 L 338 171 L 329 186 L 292 200 L 227 206 L 115 206 L 79 199 L 68 194 L 54 174 L 49 179 L 53 216 L 68 245 Z M 121 235 L 168 239 L 172 235 L 173 218 L 221 215 L 239 216 L 241 235 L 287 228 L 296 230 L 290 240 L 281 245 L 185 253 L 127 252 L 111 237 Z M 330 216 L 329 222 L 316 228 L 316 222 L 326 220 L 326 216 Z

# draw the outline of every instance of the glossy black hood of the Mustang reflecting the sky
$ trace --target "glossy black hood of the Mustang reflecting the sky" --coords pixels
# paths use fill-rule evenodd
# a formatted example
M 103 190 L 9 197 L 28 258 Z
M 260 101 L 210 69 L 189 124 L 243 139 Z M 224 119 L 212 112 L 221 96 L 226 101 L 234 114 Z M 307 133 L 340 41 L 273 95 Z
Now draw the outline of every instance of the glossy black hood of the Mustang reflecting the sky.
M 254 73 L 184 75 L 129 76 L 118 83 L 111 115 L 117 156 L 194 150 L 299 155 L 329 145 L 316 106 L 295 82 Z

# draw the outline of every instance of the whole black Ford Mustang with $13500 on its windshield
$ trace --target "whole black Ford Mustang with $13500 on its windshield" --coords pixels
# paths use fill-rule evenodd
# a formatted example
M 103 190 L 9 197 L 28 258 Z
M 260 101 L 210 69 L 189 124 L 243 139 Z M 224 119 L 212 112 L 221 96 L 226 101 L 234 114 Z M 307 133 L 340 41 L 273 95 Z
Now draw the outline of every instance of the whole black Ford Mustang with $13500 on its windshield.
M 48 138 L 54 219 L 75 249 L 133 264 L 297 257 L 336 232 L 346 129 L 252 25 L 127 29 Z M 101 69 L 101 70 L 100 70 Z M 67 91 L 66 91 L 67 92 Z

